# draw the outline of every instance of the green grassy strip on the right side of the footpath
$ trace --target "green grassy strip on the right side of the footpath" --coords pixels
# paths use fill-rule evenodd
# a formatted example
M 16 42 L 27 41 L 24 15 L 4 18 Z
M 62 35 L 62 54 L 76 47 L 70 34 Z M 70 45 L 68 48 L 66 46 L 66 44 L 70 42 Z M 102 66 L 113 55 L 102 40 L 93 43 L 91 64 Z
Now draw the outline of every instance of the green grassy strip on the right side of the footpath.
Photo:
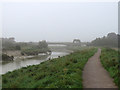
M 101 53 L 101 62 L 104 68 L 109 72 L 110 76 L 114 78 L 115 84 L 120 88 L 120 52 L 110 49 L 103 48 Z

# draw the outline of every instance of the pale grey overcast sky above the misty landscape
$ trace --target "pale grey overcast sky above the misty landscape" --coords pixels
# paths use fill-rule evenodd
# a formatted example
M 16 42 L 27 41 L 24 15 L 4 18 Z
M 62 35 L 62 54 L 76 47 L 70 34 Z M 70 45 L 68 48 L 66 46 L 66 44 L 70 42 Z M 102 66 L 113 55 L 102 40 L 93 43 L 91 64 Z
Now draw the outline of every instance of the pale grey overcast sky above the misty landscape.
M 117 3 L 4 3 L 3 37 L 91 41 L 118 33 Z

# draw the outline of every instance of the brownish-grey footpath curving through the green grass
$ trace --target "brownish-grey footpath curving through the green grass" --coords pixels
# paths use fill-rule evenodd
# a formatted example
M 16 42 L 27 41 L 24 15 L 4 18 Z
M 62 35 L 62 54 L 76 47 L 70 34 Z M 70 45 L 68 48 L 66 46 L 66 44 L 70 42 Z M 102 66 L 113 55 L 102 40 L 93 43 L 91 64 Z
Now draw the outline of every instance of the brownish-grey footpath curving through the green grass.
M 92 56 L 86 63 L 83 70 L 83 87 L 84 88 L 117 88 L 113 79 L 103 68 L 100 62 L 101 49 Z

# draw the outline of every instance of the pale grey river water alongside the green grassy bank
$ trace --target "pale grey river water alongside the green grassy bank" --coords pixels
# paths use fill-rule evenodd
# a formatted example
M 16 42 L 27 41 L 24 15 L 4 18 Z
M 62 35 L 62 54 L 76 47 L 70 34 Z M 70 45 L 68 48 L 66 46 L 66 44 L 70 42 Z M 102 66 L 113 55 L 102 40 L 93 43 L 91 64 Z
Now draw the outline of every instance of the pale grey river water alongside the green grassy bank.
M 65 56 L 69 53 L 67 52 L 52 52 L 51 55 L 41 55 L 35 59 L 25 59 L 25 60 L 14 60 L 10 62 L 0 63 L 0 74 L 5 74 L 8 71 L 13 71 L 21 67 L 27 67 L 29 65 L 40 64 L 48 60 L 49 58 L 58 58 L 58 56 Z

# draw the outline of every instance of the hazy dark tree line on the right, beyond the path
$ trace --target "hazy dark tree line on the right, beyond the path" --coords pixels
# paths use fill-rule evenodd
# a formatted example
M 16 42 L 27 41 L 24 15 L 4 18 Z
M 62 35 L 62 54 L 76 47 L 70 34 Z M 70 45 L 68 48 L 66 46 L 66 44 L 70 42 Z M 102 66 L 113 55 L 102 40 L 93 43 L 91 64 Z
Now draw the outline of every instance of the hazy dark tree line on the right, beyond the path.
M 107 36 L 102 38 L 96 38 L 89 46 L 105 46 L 105 47 L 120 47 L 120 35 L 115 33 L 109 33 Z

